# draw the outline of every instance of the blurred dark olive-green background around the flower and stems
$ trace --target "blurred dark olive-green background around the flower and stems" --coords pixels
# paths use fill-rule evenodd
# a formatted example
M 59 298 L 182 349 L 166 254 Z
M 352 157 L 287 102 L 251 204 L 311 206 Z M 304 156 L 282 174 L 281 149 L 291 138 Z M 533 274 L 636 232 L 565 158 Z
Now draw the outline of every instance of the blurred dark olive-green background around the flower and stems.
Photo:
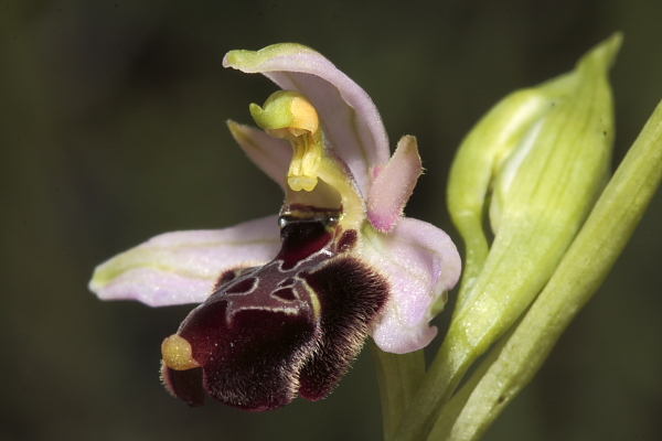
M 455 235 L 444 191 L 462 136 L 506 93 L 570 69 L 620 30 L 618 164 L 662 98 L 660 23 L 654 0 L 0 1 L 0 439 L 381 437 L 367 351 L 321 402 L 189 409 L 158 367 L 191 308 L 87 291 L 95 265 L 151 236 L 278 209 L 278 187 L 224 125 L 250 121 L 248 104 L 275 86 L 223 69 L 228 50 L 293 41 L 334 62 L 372 96 L 392 144 L 418 137 L 427 172 L 407 214 Z M 662 439 L 661 223 L 658 194 L 484 439 Z

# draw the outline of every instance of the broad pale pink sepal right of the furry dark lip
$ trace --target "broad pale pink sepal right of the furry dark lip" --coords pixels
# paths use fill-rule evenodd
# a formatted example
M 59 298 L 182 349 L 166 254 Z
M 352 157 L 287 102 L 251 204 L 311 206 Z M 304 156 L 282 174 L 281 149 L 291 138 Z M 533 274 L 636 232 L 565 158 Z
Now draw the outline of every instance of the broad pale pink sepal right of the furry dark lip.
M 431 306 L 460 277 L 461 261 L 450 237 L 423 220 L 402 218 L 393 232 L 364 235 L 365 258 L 392 283 L 384 315 L 372 336 L 383 351 L 404 354 L 425 347 L 437 334 Z

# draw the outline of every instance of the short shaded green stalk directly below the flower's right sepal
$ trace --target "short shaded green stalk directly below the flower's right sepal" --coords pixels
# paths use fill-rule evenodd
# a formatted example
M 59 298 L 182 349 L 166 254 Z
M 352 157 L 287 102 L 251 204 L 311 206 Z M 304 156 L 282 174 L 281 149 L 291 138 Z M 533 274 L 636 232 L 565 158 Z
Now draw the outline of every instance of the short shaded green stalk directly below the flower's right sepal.
M 372 340 L 370 352 L 380 387 L 384 440 L 389 441 L 425 376 L 425 357 L 421 349 L 391 354 L 380 349 Z

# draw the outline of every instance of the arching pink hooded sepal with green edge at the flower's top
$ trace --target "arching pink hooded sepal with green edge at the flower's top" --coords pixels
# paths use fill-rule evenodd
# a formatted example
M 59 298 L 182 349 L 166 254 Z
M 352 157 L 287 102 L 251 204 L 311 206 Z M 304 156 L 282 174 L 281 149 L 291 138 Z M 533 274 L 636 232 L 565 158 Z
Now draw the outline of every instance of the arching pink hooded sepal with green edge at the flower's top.
M 388 161 L 389 149 L 380 112 L 365 90 L 321 54 L 300 44 L 232 51 L 223 66 L 261 73 L 282 89 L 305 95 L 317 108 L 328 141 L 363 195 L 367 194 L 370 170 Z

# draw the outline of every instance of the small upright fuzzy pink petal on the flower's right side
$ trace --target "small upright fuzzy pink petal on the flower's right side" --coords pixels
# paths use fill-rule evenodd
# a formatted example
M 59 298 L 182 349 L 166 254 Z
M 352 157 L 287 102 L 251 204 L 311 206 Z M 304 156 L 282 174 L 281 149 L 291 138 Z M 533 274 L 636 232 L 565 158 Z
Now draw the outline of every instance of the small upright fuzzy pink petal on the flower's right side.
M 367 218 L 378 232 L 389 232 L 403 215 L 423 170 L 416 138 L 403 137 L 384 166 L 373 170 L 367 195 Z

